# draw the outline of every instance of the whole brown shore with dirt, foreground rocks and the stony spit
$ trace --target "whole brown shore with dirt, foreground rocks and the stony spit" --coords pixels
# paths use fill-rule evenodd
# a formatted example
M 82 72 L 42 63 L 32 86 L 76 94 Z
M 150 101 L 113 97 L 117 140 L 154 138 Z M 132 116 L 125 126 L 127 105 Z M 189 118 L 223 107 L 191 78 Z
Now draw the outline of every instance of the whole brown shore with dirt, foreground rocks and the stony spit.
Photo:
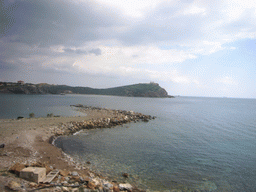
M 0 191 L 142 191 L 129 183 L 108 181 L 75 162 L 52 143 L 57 136 L 73 134 L 81 129 L 107 128 L 129 122 L 149 121 L 155 117 L 132 111 L 110 110 L 82 105 L 84 117 L 49 117 L 0 120 Z M 87 162 L 89 163 L 89 162 Z M 58 169 L 51 182 L 38 184 L 19 178 L 28 166 Z M 123 174 L 126 178 L 129 175 Z

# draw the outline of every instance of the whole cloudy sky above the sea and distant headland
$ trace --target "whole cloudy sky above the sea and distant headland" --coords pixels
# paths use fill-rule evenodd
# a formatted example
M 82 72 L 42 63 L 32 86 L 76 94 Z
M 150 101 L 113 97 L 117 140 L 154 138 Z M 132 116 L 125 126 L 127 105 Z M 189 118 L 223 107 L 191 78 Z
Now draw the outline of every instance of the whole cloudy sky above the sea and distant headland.
M 0 0 L 0 81 L 256 98 L 256 1 Z

